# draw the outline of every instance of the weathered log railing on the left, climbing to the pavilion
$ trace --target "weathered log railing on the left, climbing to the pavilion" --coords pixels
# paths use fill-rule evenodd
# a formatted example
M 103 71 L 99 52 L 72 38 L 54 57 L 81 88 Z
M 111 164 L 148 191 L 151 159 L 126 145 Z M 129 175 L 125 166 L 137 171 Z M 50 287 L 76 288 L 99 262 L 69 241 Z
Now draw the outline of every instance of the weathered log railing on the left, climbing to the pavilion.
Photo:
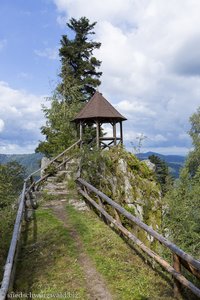
M 71 159 L 71 157 L 67 157 L 66 154 L 74 149 L 76 146 L 78 146 L 81 143 L 81 140 L 78 140 L 76 143 L 74 143 L 72 146 L 67 148 L 65 151 L 63 151 L 61 154 L 56 156 L 54 159 L 52 159 L 46 166 L 46 168 L 56 162 L 57 159 L 63 157 L 62 163 L 58 164 L 56 166 L 56 169 L 59 170 L 60 167 L 62 167 L 67 161 Z M 39 173 L 42 170 L 42 168 L 36 170 L 35 172 L 31 173 L 25 180 L 23 185 L 22 193 L 19 197 L 19 206 L 17 210 L 15 225 L 13 229 L 12 239 L 9 247 L 9 252 L 6 260 L 6 264 L 4 267 L 4 274 L 3 274 L 3 280 L 1 283 L 0 288 L 0 300 L 5 300 L 8 294 L 9 289 L 12 288 L 13 280 L 14 280 L 14 273 L 15 273 L 15 265 L 17 260 L 17 254 L 19 250 L 19 241 L 21 236 L 21 225 L 23 222 L 23 219 L 27 221 L 27 215 L 26 215 L 26 207 L 27 207 L 27 201 L 30 201 L 30 204 L 33 209 L 37 208 L 37 203 L 34 200 L 33 193 L 39 186 L 39 184 L 46 180 L 49 174 L 44 175 L 39 180 L 34 180 L 34 175 Z

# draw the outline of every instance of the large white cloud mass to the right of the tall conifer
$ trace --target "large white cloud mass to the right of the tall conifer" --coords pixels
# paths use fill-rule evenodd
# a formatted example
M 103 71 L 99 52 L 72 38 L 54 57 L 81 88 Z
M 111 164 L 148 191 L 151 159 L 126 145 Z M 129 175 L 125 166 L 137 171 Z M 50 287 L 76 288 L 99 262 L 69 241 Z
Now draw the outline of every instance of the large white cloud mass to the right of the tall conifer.
M 101 91 L 120 110 L 125 137 L 148 147 L 190 147 L 189 116 L 200 104 L 200 1 L 54 0 L 64 16 L 97 21 Z M 185 132 L 185 135 L 183 134 Z

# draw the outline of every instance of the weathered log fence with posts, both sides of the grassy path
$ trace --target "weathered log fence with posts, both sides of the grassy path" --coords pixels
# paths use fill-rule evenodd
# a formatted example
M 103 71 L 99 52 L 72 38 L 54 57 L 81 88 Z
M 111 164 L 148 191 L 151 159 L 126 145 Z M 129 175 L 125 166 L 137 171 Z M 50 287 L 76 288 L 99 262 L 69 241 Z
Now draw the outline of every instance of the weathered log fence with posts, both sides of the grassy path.
M 72 157 L 74 157 L 74 153 L 69 156 L 70 151 L 74 150 L 74 148 L 81 144 L 81 140 L 77 141 L 71 147 L 63 151 L 57 157 L 49 162 L 48 166 L 54 165 L 56 170 L 59 170 L 64 164 L 66 164 Z M 73 151 L 74 152 L 74 151 Z M 81 168 L 81 167 L 80 167 Z M 181 286 L 187 287 L 194 295 L 200 298 L 200 289 L 195 286 L 192 282 L 190 282 L 184 275 L 181 273 L 181 266 L 184 266 L 191 274 L 193 274 L 196 278 L 200 279 L 200 261 L 194 259 L 191 255 L 185 253 L 175 244 L 164 238 L 158 232 L 154 231 L 151 227 L 147 226 L 138 218 L 134 217 L 131 213 L 129 213 L 126 209 L 120 206 L 118 203 L 114 202 L 104 193 L 96 189 L 94 186 L 86 182 L 84 179 L 80 178 L 81 170 L 79 168 L 78 178 L 76 179 L 79 187 L 78 191 L 81 195 L 83 195 L 87 201 L 93 205 L 102 216 L 119 232 L 121 232 L 126 238 L 130 241 L 134 242 L 138 247 L 142 249 L 148 256 L 153 258 L 156 262 L 158 262 L 168 273 L 170 273 L 174 278 L 174 295 L 178 297 L 180 294 Z M 17 216 L 15 220 L 14 230 L 12 234 L 11 244 L 5 264 L 3 280 L 0 288 L 0 300 L 5 300 L 7 298 L 7 294 L 9 290 L 12 288 L 14 274 L 15 274 L 15 265 L 17 260 L 17 255 L 19 251 L 19 241 L 21 236 L 21 227 L 23 219 L 27 218 L 27 202 L 29 201 L 31 207 L 35 209 L 37 207 L 37 202 L 33 197 L 33 193 L 38 189 L 40 183 L 45 181 L 50 174 L 45 174 L 39 180 L 35 180 L 34 177 L 36 174 L 41 172 L 41 168 L 29 175 L 25 181 L 22 193 L 19 198 L 19 206 L 17 211 Z M 98 200 L 98 203 L 92 198 L 94 197 Z M 114 214 L 116 219 L 114 219 L 111 215 L 109 215 L 104 207 L 103 202 L 108 203 L 114 210 Z M 139 228 L 145 230 L 148 234 L 150 234 L 153 238 L 157 239 L 162 245 L 171 250 L 173 255 L 173 266 L 171 266 L 167 261 L 165 261 L 162 257 L 160 257 L 157 253 L 148 248 L 142 241 L 140 241 L 132 232 L 128 231 L 125 228 L 119 218 L 119 214 L 125 216 L 128 220 L 136 224 Z

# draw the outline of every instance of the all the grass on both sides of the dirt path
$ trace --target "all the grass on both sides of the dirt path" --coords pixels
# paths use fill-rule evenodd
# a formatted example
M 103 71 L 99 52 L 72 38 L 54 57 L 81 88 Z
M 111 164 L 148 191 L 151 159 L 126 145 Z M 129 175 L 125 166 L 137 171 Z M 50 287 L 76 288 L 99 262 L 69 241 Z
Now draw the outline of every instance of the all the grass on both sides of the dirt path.
M 165 279 L 94 212 L 76 211 L 67 205 L 66 214 L 69 228 L 78 233 L 84 251 L 102 274 L 114 300 L 173 299 L 172 289 Z M 35 212 L 34 220 L 24 228 L 15 293 L 61 294 L 56 299 L 66 299 L 63 295 L 68 293 L 68 299 L 88 299 L 78 262 L 81 250 L 77 249 L 69 230 L 51 210 L 39 208 Z

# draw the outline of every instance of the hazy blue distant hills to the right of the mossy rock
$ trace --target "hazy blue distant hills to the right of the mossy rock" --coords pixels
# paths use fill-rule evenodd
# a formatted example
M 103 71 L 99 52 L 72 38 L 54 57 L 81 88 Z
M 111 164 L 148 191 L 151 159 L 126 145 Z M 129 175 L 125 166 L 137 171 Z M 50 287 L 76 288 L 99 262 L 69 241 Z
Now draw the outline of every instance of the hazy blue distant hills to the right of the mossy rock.
M 146 152 L 146 153 L 139 153 L 137 154 L 137 157 L 140 160 L 148 159 L 150 155 L 156 155 L 160 157 L 162 160 L 164 160 L 168 166 L 171 174 L 175 177 L 179 177 L 180 169 L 183 167 L 185 163 L 185 156 L 181 155 L 163 155 L 156 152 Z

